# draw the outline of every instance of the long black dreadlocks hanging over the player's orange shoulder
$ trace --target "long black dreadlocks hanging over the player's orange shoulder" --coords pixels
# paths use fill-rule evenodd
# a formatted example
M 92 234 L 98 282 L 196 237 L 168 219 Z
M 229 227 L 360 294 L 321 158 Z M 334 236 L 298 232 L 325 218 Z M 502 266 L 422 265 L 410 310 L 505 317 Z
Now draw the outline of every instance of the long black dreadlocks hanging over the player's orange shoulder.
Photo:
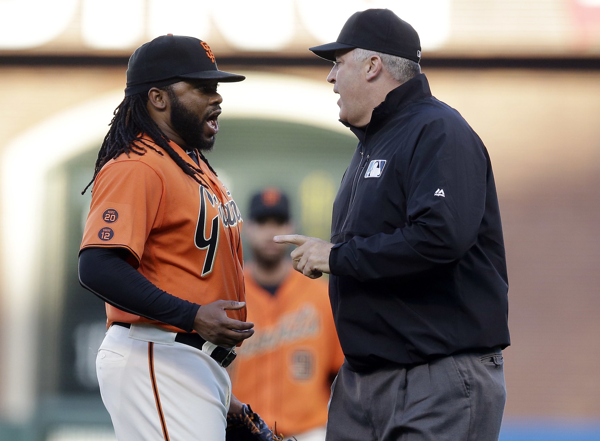
M 143 138 L 144 135 L 149 136 L 158 146 L 160 146 L 160 148 L 166 151 L 167 154 L 169 154 L 169 157 L 175 161 L 186 175 L 191 176 L 194 181 L 206 187 L 206 185 L 198 178 L 198 175 L 204 174 L 202 170 L 187 163 L 184 158 L 179 156 L 179 154 L 169 145 L 169 138 L 165 136 L 154 119 L 150 117 L 148 109 L 146 109 L 147 101 L 147 95 L 136 94 L 125 97 L 125 99 L 121 101 L 121 104 L 117 106 L 115 112 L 113 112 L 113 119 L 109 124 L 110 129 L 104 137 L 100 151 L 98 151 L 94 176 L 81 194 L 84 194 L 89 186 L 94 183 L 96 176 L 98 176 L 98 172 L 100 172 L 100 169 L 104 164 L 111 159 L 115 159 L 122 153 L 125 153 L 127 157 L 132 153 L 141 156 L 146 154 L 148 151 L 148 149 L 146 149 L 147 147 L 154 150 L 159 155 L 164 156 L 163 152 L 158 151 L 146 142 L 147 140 Z M 199 154 L 200 158 L 206 163 L 211 172 L 215 173 L 215 170 L 212 169 L 201 151 L 199 151 Z M 215 175 L 216 174 L 217 173 L 215 173 Z

